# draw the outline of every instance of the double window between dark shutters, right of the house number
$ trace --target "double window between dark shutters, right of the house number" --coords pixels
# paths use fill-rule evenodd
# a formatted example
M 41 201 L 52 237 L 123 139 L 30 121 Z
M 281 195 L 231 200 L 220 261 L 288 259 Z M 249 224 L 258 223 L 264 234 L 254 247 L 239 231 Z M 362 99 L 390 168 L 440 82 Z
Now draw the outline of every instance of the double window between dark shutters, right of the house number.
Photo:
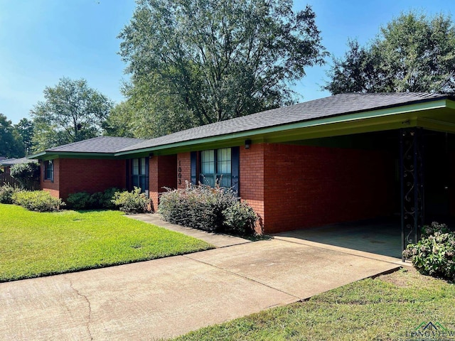
M 231 148 L 210 149 L 200 152 L 201 183 L 214 186 L 231 187 Z

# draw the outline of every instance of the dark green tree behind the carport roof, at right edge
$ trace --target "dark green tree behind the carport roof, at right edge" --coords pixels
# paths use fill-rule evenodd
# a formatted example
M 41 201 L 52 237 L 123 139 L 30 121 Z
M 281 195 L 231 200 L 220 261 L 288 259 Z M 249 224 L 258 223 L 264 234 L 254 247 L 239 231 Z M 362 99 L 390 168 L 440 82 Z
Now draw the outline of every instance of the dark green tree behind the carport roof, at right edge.
M 449 16 L 402 13 L 368 45 L 348 42 L 324 87 L 341 92 L 455 93 L 455 26 Z

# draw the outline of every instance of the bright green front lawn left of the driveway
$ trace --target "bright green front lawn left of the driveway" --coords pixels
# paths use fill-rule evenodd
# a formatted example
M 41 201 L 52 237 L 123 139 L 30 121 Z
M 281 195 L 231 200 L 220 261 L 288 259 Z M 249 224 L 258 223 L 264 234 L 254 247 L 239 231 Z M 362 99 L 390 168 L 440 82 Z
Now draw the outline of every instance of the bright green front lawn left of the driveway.
M 39 213 L 0 204 L 0 282 L 211 248 L 118 211 Z

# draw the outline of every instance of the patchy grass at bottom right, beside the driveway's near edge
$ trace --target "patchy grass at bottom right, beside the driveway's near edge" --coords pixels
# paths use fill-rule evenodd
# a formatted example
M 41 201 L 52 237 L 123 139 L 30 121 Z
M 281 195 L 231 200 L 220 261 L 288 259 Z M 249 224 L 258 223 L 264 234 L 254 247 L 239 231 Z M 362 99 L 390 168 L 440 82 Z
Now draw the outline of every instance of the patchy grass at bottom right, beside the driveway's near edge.
M 454 298 L 453 283 L 400 270 L 175 340 L 455 340 Z M 430 321 L 453 336 L 413 336 Z

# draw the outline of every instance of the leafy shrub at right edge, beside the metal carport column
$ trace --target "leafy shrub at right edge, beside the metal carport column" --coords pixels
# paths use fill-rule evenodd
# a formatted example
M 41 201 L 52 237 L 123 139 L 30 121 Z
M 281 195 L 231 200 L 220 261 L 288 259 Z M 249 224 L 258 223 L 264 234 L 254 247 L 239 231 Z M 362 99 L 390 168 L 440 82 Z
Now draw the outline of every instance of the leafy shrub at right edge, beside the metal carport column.
M 403 256 L 410 259 L 422 274 L 455 280 L 455 233 L 448 231 L 445 224 L 433 223 L 424 227 L 431 232 L 422 234 L 417 244 L 409 244 Z

